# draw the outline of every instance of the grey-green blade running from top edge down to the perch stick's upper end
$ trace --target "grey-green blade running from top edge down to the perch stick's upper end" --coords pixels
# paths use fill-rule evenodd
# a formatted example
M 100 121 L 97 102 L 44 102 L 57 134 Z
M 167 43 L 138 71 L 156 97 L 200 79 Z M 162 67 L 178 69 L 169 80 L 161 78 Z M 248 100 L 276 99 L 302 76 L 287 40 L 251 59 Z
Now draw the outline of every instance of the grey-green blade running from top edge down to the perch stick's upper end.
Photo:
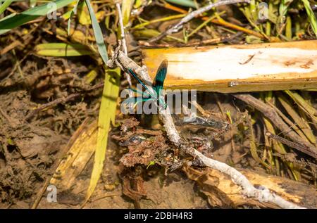
M 89 11 L 90 19 L 92 20 L 92 29 L 94 30 L 94 38 L 96 39 L 98 51 L 102 60 L 104 60 L 104 63 L 106 63 L 108 60 L 108 55 L 106 45 L 104 44 L 104 36 L 102 35 L 96 15 L 94 15 L 92 4 L 90 4 L 89 0 L 85 0 L 85 2 Z

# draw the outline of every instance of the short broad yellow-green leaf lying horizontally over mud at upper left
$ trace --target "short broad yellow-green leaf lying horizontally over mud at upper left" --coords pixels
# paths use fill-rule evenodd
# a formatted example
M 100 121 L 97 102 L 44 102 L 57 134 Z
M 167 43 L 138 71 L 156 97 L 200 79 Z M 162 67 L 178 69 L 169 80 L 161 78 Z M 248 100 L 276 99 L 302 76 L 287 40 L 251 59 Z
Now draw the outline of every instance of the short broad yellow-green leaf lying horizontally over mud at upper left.
M 84 56 L 94 54 L 87 46 L 82 44 L 65 43 L 39 44 L 35 47 L 35 52 L 41 56 Z

